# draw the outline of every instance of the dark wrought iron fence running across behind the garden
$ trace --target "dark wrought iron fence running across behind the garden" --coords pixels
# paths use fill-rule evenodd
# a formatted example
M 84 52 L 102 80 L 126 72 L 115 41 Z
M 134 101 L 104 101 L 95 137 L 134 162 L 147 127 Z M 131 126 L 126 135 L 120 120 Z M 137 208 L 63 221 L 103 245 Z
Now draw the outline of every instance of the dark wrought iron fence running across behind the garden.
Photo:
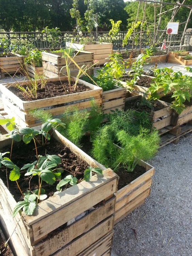
M 133 42 L 134 46 L 137 47 L 140 44 L 140 35 L 139 33 L 136 33 L 136 36 L 130 36 L 128 43 L 125 47 L 122 47 L 123 39 L 126 35 L 126 31 L 118 32 L 116 36 L 112 38 L 113 48 L 114 49 L 129 49 Z M 163 31 L 159 31 L 157 36 L 157 46 L 161 46 L 164 39 L 166 40 L 166 43 L 168 43 L 168 35 L 166 35 L 165 31 L 163 36 L 161 34 Z M 172 41 L 171 46 L 180 45 L 181 37 L 183 32 L 178 32 L 177 35 L 172 35 Z M 89 35 L 88 32 L 84 32 L 82 37 L 87 37 Z M 96 32 L 92 32 L 94 40 L 98 40 L 100 42 L 109 42 L 110 38 L 108 36 L 108 32 L 98 32 L 96 35 Z M 183 37 L 182 45 L 189 45 L 190 41 L 190 32 L 185 32 L 185 36 Z M 76 32 L 61 32 L 61 36 L 59 37 L 58 44 L 56 48 L 65 47 L 65 43 L 68 41 L 70 42 L 72 38 L 76 38 L 77 33 Z M 151 33 L 151 38 L 153 37 L 153 34 Z M 28 42 L 34 45 L 35 48 L 38 49 L 48 49 L 50 48 L 50 44 L 48 42 L 48 37 L 46 33 L 41 32 L 0 32 L 0 38 L 7 38 L 10 42 Z M 159 40 L 160 38 L 160 40 Z M 142 39 L 141 39 L 141 45 L 147 46 L 150 45 L 150 36 L 147 33 L 142 33 Z

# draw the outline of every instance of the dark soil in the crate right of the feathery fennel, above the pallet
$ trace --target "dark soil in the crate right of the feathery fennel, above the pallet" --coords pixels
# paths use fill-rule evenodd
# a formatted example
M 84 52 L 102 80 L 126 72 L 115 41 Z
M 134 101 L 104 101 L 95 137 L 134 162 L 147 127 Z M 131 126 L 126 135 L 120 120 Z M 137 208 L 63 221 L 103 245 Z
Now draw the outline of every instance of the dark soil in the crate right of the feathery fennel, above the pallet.
M 144 111 L 150 113 L 151 109 L 154 111 L 157 111 L 157 110 L 164 108 L 164 106 L 161 103 L 155 102 L 153 100 L 150 100 L 150 104 L 151 104 L 152 108 L 150 108 L 147 105 L 142 104 L 141 99 L 134 99 L 132 101 L 126 101 L 125 102 L 125 111 L 128 109 L 133 109 L 138 112 L 142 112 L 144 110 Z

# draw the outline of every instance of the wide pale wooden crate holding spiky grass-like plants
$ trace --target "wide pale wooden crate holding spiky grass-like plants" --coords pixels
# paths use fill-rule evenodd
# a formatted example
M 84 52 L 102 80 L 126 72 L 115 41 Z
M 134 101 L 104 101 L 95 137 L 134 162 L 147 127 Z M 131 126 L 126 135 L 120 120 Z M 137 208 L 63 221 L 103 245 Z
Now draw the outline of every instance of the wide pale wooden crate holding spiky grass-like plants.
M 75 78 L 71 77 L 71 81 L 74 81 Z M 40 81 L 40 80 L 39 80 Z M 60 78 L 49 78 L 47 79 L 48 82 L 55 82 L 55 81 L 67 81 L 67 77 L 60 77 Z M 18 82 L 23 84 L 23 82 Z M 27 83 L 27 81 L 25 82 Z M 78 109 L 86 109 L 91 106 L 91 99 L 94 98 L 95 102 L 100 106 L 102 103 L 101 95 L 102 95 L 102 88 L 87 83 L 78 79 L 78 83 L 84 84 L 87 87 L 91 88 L 90 91 L 79 92 L 74 94 L 67 94 L 63 96 L 57 96 L 52 98 L 40 99 L 40 100 L 33 100 L 33 101 L 23 101 L 19 99 L 16 95 L 14 95 L 11 91 L 7 89 L 8 86 L 14 86 L 15 83 L 9 84 L 0 84 L 0 91 L 2 92 L 2 100 L 4 105 L 4 110 L 7 112 L 8 115 L 14 116 L 16 122 L 21 126 L 29 126 L 34 127 L 40 125 L 41 122 L 36 120 L 33 115 L 29 113 L 30 110 L 36 108 L 49 108 L 48 111 L 52 113 L 53 116 L 59 116 L 64 113 L 65 109 L 68 107 L 77 107 Z M 74 102 L 78 101 L 78 102 Z M 57 105 L 69 103 L 69 105 L 60 106 Z

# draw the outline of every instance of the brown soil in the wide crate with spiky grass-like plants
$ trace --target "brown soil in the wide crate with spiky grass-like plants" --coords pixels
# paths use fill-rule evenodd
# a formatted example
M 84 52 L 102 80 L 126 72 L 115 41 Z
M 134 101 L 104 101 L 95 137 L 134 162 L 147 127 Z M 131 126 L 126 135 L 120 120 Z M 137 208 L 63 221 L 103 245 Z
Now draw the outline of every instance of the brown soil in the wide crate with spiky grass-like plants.
M 73 86 L 73 84 L 71 84 Z M 25 85 L 24 85 L 25 87 Z M 41 89 L 41 84 L 39 84 L 39 88 L 37 89 L 37 97 L 36 98 L 28 98 L 26 95 L 24 95 L 23 92 L 21 92 L 16 87 L 9 87 L 8 88 L 12 93 L 14 93 L 17 97 L 19 97 L 21 100 L 24 101 L 33 101 L 38 99 L 46 99 L 46 98 L 52 98 L 56 96 L 62 96 L 67 94 L 73 94 L 73 93 L 79 93 L 79 92 L 85 92 L 85 91 L 91 91 L 89 87 L 83 85 L 83 84 L 77 84 L 76 90 L 74 91 L 73 87 L 70 91 L 70 86 L 68 82 L 51 82 L 47 83 L 43 89 Z

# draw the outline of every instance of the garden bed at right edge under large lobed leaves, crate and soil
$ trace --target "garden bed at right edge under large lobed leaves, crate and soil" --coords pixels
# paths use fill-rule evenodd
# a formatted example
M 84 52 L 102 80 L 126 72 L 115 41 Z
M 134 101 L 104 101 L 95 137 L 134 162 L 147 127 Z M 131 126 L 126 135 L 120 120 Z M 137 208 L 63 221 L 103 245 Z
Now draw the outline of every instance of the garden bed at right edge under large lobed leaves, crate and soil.
M 171 96 L 164 96 L 162 100 L 171 103 L 173 98 L 171 98 Z M 171 119 L 172 126 L 179 126 L 192 120 L 192 98 L 190 99 L 190 102 L 186 100 L 184 105 L 186 106 L 186 109 L 184 109 L 180 114 L 177 114 L 173 110 Z

